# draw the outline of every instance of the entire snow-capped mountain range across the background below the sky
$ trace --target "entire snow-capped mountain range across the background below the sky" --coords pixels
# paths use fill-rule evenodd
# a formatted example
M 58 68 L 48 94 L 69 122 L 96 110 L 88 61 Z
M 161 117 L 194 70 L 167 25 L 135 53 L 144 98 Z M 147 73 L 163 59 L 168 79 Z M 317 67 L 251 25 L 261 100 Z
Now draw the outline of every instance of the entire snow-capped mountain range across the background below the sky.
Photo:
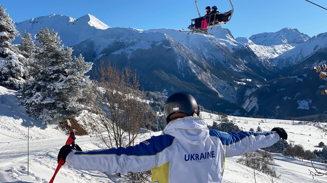
M 301 63 L 318 50 L 323 50 L 327 37 L 327 33 L 324 33 L 310 38 L 297 29 L 284 28 L 275 33 L 235 39 L 230 30 L 221 26 L 210 30 L 215 36 L 188 35 L 165 28 L 139 30 L 109 27 L 90 14 L 78 19 L 63 15 L 43 16 L 15 25 L 20 33 L 26 30 L 32 35 L 44 26 L 53 28 L 60 35 L 62 43 L 73 46 L 73 54 L 82 53 L 86 61 L 95 65 L 107 60 L 120 67 L 130 65 L 132 69 L 137 69 L 145 90 L 166 94 L 187 91 L 203 101 L 201 105 L 206 108 L 229 114 L 241 111 L 241 114 L 248 115 L 260 113 L 263 111 L 260 108 L 272 104 L 269 101 L 271 93 L 264 97 L 265 102 L 256 96 L 265 95 L 262 89 L 258 90 L 258 86 L 262 86 L 266 80 L 288 75 L 288 72 L 280 69 Z M 292 95 L 296 94 L 291 86 L 287 90 Z M 311 90 L 307 92 L 315 92 Z M 258 110 L 246 105 L 255 100 L 259 101 Z M 286 108 L 287 105 L 285 103 Z M 318 111 L 327 109 L 322 107 L 309 114 Z M 273 111 L 269 112 L 268 115 L 275 116 Z

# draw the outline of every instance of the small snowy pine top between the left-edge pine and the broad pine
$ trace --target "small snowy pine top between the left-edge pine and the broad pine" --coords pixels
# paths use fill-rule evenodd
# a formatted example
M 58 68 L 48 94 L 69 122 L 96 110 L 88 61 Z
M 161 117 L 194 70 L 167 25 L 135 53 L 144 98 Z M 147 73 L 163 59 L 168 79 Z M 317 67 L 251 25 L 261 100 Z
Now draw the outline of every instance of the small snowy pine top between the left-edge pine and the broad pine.
M 22 41 L 19 42 L 19 52 L 22 54 L 25 58 L 33 58 L 34 57 L 34 50 L 37 48 L 34 44 L 34 41 L 32 39 L 31 34 L 26 33 L 26 30 L 24 30 L 23 35 L 21 35 Z

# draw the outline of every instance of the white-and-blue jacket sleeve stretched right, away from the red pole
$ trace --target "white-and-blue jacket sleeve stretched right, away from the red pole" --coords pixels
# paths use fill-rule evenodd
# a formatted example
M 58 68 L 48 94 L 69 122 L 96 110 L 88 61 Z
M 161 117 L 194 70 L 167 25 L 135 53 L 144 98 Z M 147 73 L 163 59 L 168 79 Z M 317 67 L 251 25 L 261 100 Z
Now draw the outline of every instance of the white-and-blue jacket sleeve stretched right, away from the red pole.
M 249 151 L 272 146 L 279 139 L 275 132 L 220 132 L 210 130 L 210 135 L 216 136 L 226 149 L 225 157 L 240 156 Z

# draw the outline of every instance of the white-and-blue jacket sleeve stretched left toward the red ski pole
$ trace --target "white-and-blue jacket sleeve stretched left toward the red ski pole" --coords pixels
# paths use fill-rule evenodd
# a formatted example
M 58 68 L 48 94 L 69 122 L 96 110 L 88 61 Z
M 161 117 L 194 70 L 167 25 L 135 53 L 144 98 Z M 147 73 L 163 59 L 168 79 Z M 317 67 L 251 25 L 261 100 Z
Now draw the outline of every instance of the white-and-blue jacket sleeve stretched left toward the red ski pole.
M 161 144 L 158 144 L 158 138 L 163 140 Z M 143 172 L 156 167 L 159 156 L 163 155 L 160 152 L 171 144 L 172 139 L 160 135 L 127 148 L 73 151 L 68 154 L 66 163 L 78 170 L 109 173 Z

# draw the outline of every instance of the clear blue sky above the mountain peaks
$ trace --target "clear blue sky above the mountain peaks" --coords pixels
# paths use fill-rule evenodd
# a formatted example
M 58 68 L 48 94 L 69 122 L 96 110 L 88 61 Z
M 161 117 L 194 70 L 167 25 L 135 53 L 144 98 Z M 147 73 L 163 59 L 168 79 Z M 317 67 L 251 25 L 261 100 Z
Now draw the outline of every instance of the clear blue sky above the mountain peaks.
M 327 7 L 327 0 L 312 0 Z M 327 32 L 327 10 L 304 0 L 232 0 L 235 13 L 223 25 L 234 37 L 250 37 L 276 32 L 284 27 L 297 28 L 309 36 Z M 137 29 L 186 28 L 198 16 L 194 0 L 2 0 L 10 17 L 16 21 L 50 14 L 79 18 L 88 13 L 111 27 Z M 228 0 L 198 0 L 203 15 L 206 6 L 218 11 L 231 9 Z

